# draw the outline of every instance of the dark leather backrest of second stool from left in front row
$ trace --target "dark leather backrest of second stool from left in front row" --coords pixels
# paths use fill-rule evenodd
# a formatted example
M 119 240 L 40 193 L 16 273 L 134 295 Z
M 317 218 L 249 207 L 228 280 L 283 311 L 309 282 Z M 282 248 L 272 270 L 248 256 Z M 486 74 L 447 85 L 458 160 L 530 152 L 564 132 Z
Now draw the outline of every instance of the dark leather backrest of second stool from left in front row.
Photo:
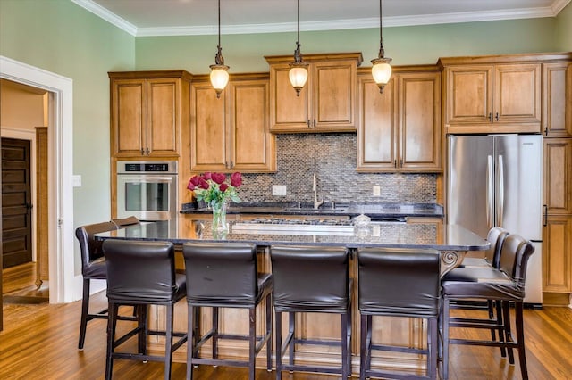
M 209 306 L 257 301 L 257 248 L 242 243 L 183 245 L 187 271 L 187 299 Z M 219 300 L 219 303 L 214 302 Z

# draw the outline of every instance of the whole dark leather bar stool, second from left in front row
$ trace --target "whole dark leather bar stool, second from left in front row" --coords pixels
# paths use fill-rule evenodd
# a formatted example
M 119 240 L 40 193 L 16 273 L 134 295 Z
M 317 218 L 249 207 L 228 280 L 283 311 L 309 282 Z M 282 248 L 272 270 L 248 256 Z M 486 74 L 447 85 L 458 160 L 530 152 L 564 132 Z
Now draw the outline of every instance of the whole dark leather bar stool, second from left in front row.
M 182 247 L 187 274 L 189 339 L 187 378 L 198 364 L 247 367 L 254 380 L 257 354 L 266 346 L 266 368 L 272 371 L 272 288 L 273 277 L 258 273 L 257 248 L 240 243 L 187 243 Z M 265 302 L 265 334 L 257 336 L 257 306 Z M 197 308 L 212 308 L 212 326 L 199 336 Z M 220 308 L 248 309 L 248 335 L 231 335 L 219 331 Z M 248 361 L 222 359 L 218 355 L 220 340 L 248 341 Z M 200 347 L 212 343 L 211 357 L 200 355 Z

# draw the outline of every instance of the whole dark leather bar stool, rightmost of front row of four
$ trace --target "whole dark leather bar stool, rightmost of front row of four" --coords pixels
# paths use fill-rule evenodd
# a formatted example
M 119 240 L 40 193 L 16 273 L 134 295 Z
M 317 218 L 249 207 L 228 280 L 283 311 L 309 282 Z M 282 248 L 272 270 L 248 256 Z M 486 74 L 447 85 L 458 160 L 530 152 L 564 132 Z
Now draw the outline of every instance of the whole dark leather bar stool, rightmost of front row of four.
M 359 378 L 430 378 L 437 376 L 440 253 L 434 250 L 362 248 L 357 252 L 358 306 L 361 316 Z M 427 320 L 425 349 L 374 343 L 374 316 Z M 372 351 L 423 354 L 425 376 L 371 368 Z

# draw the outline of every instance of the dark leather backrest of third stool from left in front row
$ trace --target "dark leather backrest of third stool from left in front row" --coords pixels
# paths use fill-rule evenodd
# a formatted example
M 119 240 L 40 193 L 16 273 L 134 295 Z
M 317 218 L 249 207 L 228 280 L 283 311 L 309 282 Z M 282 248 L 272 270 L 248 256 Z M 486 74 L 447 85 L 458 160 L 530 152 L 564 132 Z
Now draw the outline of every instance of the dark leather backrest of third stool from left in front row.
M 274 245 L 270 258 L 276 310 L 343 312 L 349 304 L 344 247 Z

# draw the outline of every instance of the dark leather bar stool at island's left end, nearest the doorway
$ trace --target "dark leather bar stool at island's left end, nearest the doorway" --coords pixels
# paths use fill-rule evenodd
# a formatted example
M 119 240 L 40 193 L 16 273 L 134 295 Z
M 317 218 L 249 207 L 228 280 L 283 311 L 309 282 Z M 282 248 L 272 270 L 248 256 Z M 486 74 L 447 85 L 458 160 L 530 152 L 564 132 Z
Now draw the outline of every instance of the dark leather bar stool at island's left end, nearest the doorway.
M 94 239 L 100 232 L 113 231 L 117 225 L 113 222 L 103 222 L 77 227 L 75 235 L 80 242 L 81 275 L 83 277 L 83 297 L 81 298 L 80 340 L 78 348 L 83 350 L 86 340 L 88 322 L 92 319 L 107 319 L 107 309 L 89 313 L 89 293 L 91 280 L 105 280 L 107 268 L 105 266 L 104 252 L 101 249 L 103 242 Z

